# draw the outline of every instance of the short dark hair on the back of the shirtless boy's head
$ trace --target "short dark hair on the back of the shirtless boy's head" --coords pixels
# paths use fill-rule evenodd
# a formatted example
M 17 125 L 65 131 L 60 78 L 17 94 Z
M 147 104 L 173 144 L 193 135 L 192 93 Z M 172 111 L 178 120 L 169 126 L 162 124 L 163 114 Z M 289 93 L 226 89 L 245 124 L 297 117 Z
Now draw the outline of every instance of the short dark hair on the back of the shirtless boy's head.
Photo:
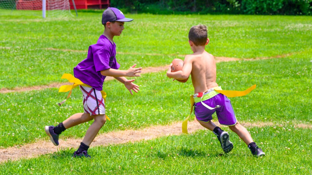
M 208 38 L 206 25 L 195 25 L 191 27 L 188 32 L 188 39 L 191 40 L 196 46 L 203 46 L 206 44 Z

